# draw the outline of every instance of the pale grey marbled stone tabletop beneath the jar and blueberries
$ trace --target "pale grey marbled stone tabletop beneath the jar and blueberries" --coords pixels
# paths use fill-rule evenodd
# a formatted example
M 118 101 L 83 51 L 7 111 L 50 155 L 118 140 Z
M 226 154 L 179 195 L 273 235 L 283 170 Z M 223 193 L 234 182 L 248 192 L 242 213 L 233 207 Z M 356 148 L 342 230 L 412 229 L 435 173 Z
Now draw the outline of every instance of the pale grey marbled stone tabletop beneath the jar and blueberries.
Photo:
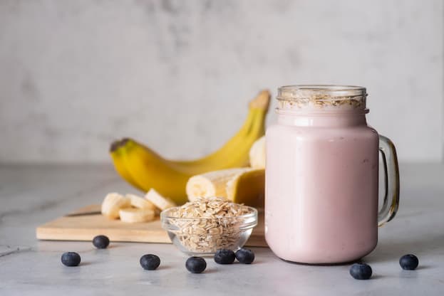
M 254 248 L 252 265 L 217 265 L 201 275 L 185 270 L 186 256 L 170 244 L 38 241 L 38 224 L 79 206 L 98 203 L 108 191 L 133 191 L 110 166 L 0 166 L 0 295 L 443 295 L 444 166 L 401 165 L 401 206 L 380 228 L 378 247 L 364 260 L 371 280 L 353 280 L 349 265 L 285 263 L 268 248 Z M 63 252 L 82 263 L 67 268 Z M 162 260 L 156 271 L 140 268 L 145 253 Z M 418 255 L 404 271 L 398 259 Z

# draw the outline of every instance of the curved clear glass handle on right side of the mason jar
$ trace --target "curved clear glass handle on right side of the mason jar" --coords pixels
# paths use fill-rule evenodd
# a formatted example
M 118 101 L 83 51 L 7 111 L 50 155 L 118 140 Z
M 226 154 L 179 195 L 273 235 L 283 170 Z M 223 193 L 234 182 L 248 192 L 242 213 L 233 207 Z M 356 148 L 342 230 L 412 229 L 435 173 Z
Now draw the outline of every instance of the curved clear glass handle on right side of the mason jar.
M 399 206 L 399 168 L 398 157 L 393 142 L 379 135 L 379 151 L 384 164 L 385 194 L 381 211 L 378 213 L 378 226 L 391 221 Z

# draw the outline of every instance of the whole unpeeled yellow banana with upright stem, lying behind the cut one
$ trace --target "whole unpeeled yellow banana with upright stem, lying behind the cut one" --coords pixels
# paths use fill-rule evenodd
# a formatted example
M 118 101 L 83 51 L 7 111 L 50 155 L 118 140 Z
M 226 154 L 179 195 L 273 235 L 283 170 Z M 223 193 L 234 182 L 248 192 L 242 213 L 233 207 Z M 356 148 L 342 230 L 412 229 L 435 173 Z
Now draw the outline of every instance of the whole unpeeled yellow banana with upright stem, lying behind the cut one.
M 110 154 L 115 170 L 142 191 L 157 190 L 177 204 L 187 201 L 187 181 L 197 174 L 249 165 L 249 150 L 265 132 L 270 93 L 263 90 L 249 102 L 247 119 L 220 149 L 201 159 L 170 160 L 133 139 L 113 142 Z M 233 184 L 237 186 L 237 184 Z

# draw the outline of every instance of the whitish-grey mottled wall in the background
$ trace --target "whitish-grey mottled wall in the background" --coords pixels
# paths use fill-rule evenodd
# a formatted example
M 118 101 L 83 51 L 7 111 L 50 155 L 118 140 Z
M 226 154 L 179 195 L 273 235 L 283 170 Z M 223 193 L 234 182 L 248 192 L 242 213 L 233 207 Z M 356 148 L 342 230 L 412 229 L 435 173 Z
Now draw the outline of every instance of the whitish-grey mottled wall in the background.
M 439 0 L 0 0 L 0 162 L 197 157 L 295 83 L 365 85 L 399 157 L 439 161 L 443 34 Z

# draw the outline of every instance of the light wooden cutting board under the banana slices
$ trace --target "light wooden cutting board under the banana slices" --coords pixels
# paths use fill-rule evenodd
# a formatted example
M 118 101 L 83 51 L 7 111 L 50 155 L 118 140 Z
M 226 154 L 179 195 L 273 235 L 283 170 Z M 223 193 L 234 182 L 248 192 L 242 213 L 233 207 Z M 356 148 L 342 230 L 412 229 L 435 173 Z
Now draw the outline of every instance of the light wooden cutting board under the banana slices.
M 100 205 L 80 208 L 73 213 L 100 211 Z M 40 240 L 92 240 L 103 234 L 113 241 L 130 241 L 140 243 L 171 243 L 167 232 L 162 229 L 160 219 L 145 223 L 125 223 L 110 220 L 100 213 L 86 216 L 63 216 L 44 223 L 36 229 Z M 264 238 L 264 214 L 259 213 L 258 225 L 253 229 L 247 241 L 251 247 L 267 247 Z

